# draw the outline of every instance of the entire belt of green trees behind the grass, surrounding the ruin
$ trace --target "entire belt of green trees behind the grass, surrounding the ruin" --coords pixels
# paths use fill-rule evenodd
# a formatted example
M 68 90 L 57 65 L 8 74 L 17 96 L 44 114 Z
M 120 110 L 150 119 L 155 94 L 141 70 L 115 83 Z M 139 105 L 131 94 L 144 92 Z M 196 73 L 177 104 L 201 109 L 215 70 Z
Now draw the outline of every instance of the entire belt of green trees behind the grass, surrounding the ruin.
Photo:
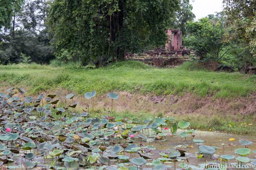
M 195 21 L 189 0 L 1 0 L 0 64 L 103 66 L 164 46 L 178 28 L 198 62 L 237 70 L 256 62 L 256 1 L 223 0 Z

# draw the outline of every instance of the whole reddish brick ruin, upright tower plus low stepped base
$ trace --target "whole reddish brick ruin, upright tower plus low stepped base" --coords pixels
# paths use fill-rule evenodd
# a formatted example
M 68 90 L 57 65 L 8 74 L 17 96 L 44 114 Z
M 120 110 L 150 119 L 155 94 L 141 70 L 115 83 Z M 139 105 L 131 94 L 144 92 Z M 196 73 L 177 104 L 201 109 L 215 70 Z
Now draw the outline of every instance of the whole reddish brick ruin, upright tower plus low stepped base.
M 156 67 L 178 66 L 191 60 L 189 57 L 191 51 L 182 47 L 182 31 L 167 29 L 166 34 L 168 35 L 168 41 L 164 49 L 158 48 L 142 54 L 126 53 L 126 58 Z

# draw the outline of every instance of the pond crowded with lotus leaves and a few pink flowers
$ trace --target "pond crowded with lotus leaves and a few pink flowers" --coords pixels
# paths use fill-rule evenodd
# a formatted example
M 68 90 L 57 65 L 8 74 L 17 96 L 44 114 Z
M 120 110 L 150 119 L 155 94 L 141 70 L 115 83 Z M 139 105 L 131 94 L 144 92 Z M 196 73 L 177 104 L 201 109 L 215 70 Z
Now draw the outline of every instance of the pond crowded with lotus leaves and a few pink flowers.
M 90 117 L 91 107 L 58 107 L 55 94 L 25 95 L 22 88 L 0 93 L 0 166 L 52 170 L 225 170 L 220 165 L 256 166 L 255 137 L 189 128 L 173 117 Z M 118 94 L 109 93 L 111 110 Z M 214 168 L 213 166 L 214 165 Z

